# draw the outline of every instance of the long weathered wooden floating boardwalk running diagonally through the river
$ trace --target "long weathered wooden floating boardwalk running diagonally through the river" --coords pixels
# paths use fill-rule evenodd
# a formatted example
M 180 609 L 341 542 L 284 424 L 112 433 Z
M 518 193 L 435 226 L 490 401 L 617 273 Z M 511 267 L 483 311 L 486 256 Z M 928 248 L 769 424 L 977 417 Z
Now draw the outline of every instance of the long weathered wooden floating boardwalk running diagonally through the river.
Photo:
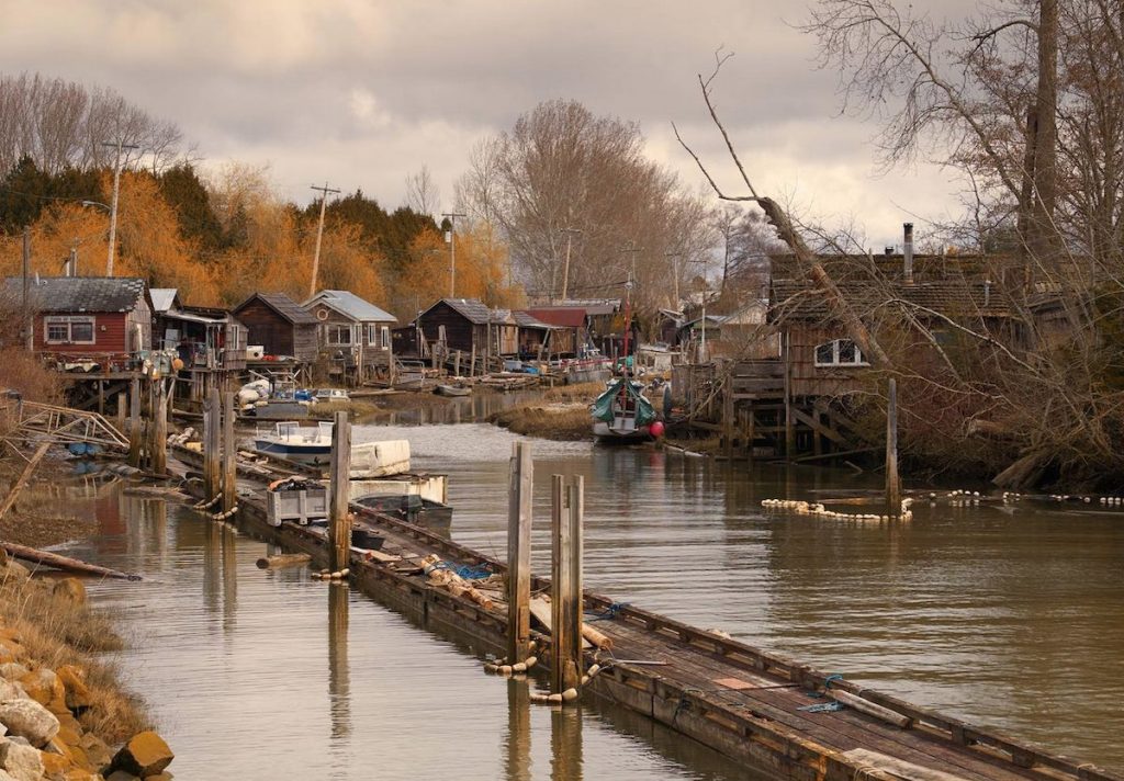
M 198 454 L 182 448 L 175 449 L 175 456 L 191 469 L 201 463 Z M 265 523 L 264 481 L 287 467 L 239 463 L 239 526 L 289 551 L 307 552 L 317 565 L 324 565 L 328 547 L 321 530 L 290 523 L 274 528 Z M 379 558 L 352 550 L 353 584 L 427 629 L 468 641 L 478 653 L 505 653 L 506 606 L 497 602 L 484 609 L 468 598 L 454 597 L 430 585 L 417 564 L 435 553 L 457 565 L 487 566 L 502 573 L 502 562 L 366 508 L 353 506 L 353 510 L 364 525 L 387 538 L 382 550 L 387 555 Z M 534 579 L 532 584 L 535 590 L 547 585 L 543 579 Z M 587 697 L 625 706 L 777 778 L 1124 779 L 738 641 L 615 605 L 605 596 L 587 591 L 584 603 L 587 612 L 605 616 L 593 626 L 613 641 L 611 653 L 587 652 L 587 664 L 605 666 L 583 689 Z M 537 641 L 541 648 L 547 647 L 545 637 L 538 635 Z M 849 694 L 892 711 L 891 716 L 906 726 L 852 707 L 818 712 L 807 709 Z

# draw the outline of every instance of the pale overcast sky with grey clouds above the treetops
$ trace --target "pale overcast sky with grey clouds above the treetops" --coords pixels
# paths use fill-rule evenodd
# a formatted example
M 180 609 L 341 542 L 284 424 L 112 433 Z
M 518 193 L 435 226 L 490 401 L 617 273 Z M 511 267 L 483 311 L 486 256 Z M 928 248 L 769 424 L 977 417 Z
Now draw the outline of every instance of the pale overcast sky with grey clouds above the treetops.
M 941 9 L 970 0 L 916 0 Z M 792 29 L 800 0 L 0 0 L 0 72 L 111 87 L 175 121 L 206 165 L 268 164 L 297 202 L 327 181 L 387 207 L 423 164 L 445 208 L 473 143 L 537 102 L 640 124 L 649 153 L 703 182 L 671 121 L 731 190 L 696 74 L 719 46 L 720 115 L 759 191 L 869 243 L 957 210 L 949 174 L 879 174 L 877 128 L 839 116 L 837 74 Z

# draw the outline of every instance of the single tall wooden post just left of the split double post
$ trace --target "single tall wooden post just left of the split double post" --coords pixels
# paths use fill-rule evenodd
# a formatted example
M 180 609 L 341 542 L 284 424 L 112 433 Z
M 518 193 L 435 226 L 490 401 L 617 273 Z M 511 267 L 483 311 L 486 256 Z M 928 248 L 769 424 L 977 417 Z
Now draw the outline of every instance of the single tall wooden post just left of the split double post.
M 523 662 L 531 655 L 531 523 L 534 464 L 531 445 L 511 448 L 511 482 L 507 514 L 507 660 Z

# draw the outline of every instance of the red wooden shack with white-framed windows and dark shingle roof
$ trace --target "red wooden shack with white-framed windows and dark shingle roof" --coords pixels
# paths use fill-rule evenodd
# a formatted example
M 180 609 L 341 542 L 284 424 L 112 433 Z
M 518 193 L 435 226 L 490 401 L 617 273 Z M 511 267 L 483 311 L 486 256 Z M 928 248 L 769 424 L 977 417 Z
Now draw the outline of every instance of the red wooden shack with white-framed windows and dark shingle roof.
M 19 301 L 24 280 L 7 280 Z M 152 349 L 152 298 L 142 279 L 46 276 L 28 280 L 31 347 L 58 364 L 98 363 L 124 371 L 137 353 Z

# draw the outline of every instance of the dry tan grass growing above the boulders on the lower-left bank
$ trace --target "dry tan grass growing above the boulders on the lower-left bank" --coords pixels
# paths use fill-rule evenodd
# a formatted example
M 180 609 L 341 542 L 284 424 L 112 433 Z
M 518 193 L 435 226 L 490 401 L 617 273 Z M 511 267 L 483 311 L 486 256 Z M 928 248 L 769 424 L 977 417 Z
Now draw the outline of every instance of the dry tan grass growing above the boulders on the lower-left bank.
M 73 664 L 85 671 L 93 705 L 79 720 L 107 744 L 151 729 L 144 705 L 121 687 L 117 664 L 96 657 L 124 646 L 112 616 L 56 598 L 51 587 L 40 580 L 0 582 L 0 617 L 19 633 L 26 657 L 51 670 Z

